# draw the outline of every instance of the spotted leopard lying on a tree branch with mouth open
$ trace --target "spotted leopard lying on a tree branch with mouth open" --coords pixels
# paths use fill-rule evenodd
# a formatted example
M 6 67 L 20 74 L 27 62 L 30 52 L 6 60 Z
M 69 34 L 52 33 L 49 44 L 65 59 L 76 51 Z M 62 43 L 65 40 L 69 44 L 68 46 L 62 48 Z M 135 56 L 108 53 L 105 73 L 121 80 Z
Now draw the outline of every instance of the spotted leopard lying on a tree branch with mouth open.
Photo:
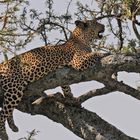
M 29 83 L 35 82 L 60 67 L 70 66 L 76 70 L 94 67 L 105 55 L 92 51 L 91 44 L 103 37 L 105 26 L 96 19 L 76 20 L 69 39 L 62 44 L 45 45 L 19 54 L 0 64 L 0 87 L 4 91 L 0 111 L 0 138 L 8 140 L 5 122 L 14 132 L 18 127 L 13 111 L 22 100 Z M 73 96 L 70 85 L 60 85 L 62 94 Z

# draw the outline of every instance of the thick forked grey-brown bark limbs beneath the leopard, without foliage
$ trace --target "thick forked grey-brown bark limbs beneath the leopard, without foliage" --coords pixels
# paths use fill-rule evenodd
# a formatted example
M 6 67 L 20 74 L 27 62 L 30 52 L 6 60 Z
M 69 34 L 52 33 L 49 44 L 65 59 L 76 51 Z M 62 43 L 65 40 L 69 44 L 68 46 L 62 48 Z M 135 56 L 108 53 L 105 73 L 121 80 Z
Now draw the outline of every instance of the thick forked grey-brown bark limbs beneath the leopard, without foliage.
M 30 83 L 25 90 L 22 102 L 18 109 L 32 115 L 41 114 L 87 140 L 133 140 L 123 132 L 101 119 L 97 114 L 81 107 L 81 104 L 91 97 L 108 94 L 112 91 L 121 91 L 136 99 L 140 99 L 140 92 L 122 81 L 118 82 L 111 76 L 118 71 L 139 72 L 140 54 L 126 56 L 123 54 L 110 55 L 101 60 L 94 68 L 76 71 L 64 67 Z M 96 80 L 105 85 L 77 98 L 64 98 L 60 93 L 44 95 L 46 89 L 55 88 L 63 84 L 73 84 L 83 81 Z M 3 91 L 0 89 L 0 106 L 2 106 Z M 36 100 L 38 99 L 39 100 Z M 36 100 L 36 101 L 35 101 Z M 35 101 L 35 102 L 34 102 Z M 34 102 L 34 104 L 32 104 Z

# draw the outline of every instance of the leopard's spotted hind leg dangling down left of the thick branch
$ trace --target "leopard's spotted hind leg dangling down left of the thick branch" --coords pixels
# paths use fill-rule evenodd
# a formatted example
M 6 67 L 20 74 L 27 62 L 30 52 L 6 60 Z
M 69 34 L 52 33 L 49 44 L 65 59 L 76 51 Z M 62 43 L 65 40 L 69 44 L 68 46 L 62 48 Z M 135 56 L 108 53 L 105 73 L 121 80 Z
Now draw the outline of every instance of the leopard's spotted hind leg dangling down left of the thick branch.
M 16 89 L 16 90 L 14 90 Z M 8 120 L 10 128 L 16 132 L 18 128 L 15 126 L 12 115 L 14 108 L 18 105 L 21 101 L 23 92 L 22 87 L 13 87 L 11 91 L 13 92 L 5 92 L 4 94 L 4 102 L 3 107 L 0 114 L 0 138 L 2 140 L 8 140 L 8 135 L 5 129 L 5 121 Z

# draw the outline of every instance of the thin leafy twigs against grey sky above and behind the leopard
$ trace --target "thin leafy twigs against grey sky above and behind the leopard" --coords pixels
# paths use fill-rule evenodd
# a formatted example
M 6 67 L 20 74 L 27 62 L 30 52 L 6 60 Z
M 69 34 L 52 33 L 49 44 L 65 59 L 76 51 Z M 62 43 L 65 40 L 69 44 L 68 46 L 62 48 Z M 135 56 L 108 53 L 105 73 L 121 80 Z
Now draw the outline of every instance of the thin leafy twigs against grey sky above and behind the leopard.
M 55 0 L 46 0 L 45 11 L 31 8 L 28 0 L 0 1 L 3 12 L 0 16 L 0 52 L 8 59 L 7 52 L 15 55 L 18 49 L 26 47 L 34 37 L 38 36 L 45 45 L 49 43 L 62 43 L 68 40 L 70 26 L 74 22 L 73 13 L 70 12 L 72 0 L 66 6 L 66 12 L 59 14 L 54 9 Z M 94 5 L 98 7 L 93 8 Z M 108 35 L 93 48 L 109 49 L 112 46 L 119 52 L 139 47 L 140 34 L 140 1 L 139 0 L 91 0 L 91 4 L 84 5 L 77 1 L 75 19 L 103 20 L 108 29 Z M 132 23 L 132 28 L 130 24 Z M 60 38 L 50 39 L 49 32 L 60 34 Z M 130 35 L 132 33 L 132 35 Z M 135 34 L 136 37 L 133 35 Z M 111 38 L 111 39 L 110 39 Z M 112 40 L 111 42 L 110 40 Z M 117 49 L 116 49 L 117 48 Z

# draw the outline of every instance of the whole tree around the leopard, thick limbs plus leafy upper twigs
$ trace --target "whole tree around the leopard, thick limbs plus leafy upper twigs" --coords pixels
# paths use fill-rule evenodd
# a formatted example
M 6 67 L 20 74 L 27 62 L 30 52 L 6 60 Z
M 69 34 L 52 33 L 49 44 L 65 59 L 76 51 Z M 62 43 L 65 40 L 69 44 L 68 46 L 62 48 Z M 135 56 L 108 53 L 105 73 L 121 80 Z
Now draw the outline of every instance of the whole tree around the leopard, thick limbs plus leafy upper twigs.
M 68 40 L 71 33 L 70 28 L 73 26 L 74 16 L 75 19 L 96 17 L 97 20 L 102 20 L 109 31 L 108 35 L 100 42 L 95 41 L 91 47 L 94 51 L 110 51 L 113 54 L 109 56 L 110 59 L 103 59 L 101 66 L 84 72 L 78 72 L 71 68 L 58 69 L 36 83 L 30 84 L 18 109 L 26 113 L 47 116 L 84 139 L 134 139 L 80 105 L 94 96 L 108 94 L 112 91 L 121 91 L 140 99 L 138 90 L 117 80 L 119 71 L 139 73 L 140 1 L 91 0 L 91 2 L 96 3 L 98 7 L 93 9 L 89 5 L 77 2 L 77 11 L 71 13 L 69 7 L 72 0 L 70 0 L 66 12 L 58 15 L 53 8 L 53 0 L 45 1 L 45 11 L 31 9 L 30 3 L 26 0 L 0 1 L 0 6 L 3 7 L 0 16 L 0 53 L 6 61 L 9 59 L 9 55 L 16 55 L 18 50 L 26 47 L 28 43 L 34 41 L 34 38 L 38 37 L 45 45 L 63 43 Z M 60 38 L 52 40 L 47 35 L 48 32 L 60 34 Z M 135 36 L 128 38 L 129 32 L 133 32 Z M 112 42 L 109 40 L 110 36 L 114 37 Z M 115 79 L 111 78 L 112 74 L 115 75 Z M 49 95 L 47 98 L 45 96 L 40 98 L 46 89 L 64 83 L 73 84 L 89 80 L 99 81 L 104 84 L 104 87 L 73 98 L 73 100 L 64 99 L 57 93 Z M 0 103 L 2 103 L 2 90 L 0 90 L 0 95 Z M 38 105 L 32 105 L 32 102 L 38 98 L 42 102 Z M 75 106 L 77 100 L 81 103 L 79 106 Z

